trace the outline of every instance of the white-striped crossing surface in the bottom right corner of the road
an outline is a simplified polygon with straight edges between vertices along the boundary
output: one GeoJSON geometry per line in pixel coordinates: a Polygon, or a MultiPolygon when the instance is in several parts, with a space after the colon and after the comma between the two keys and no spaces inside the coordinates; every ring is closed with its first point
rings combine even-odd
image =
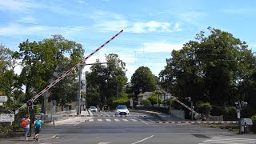
{"type": "Polygon", "coordinates": [[[214,143],[222,143],[222,144],[255,144],[256,138],[233,138],[233,137],[214,137],[207,139],[206,141],[200,142],[198,144],[214,144],[214,143]]]}

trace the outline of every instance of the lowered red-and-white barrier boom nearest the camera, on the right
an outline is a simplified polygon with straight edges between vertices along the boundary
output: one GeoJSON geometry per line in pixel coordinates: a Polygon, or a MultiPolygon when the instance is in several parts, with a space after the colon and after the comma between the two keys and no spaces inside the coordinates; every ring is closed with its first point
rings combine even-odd
{"type": "Polygon", "coordinates": [[[237,121],[195,121],[195,122],[155,122],[157,124],[236,124],[237,121]]]}

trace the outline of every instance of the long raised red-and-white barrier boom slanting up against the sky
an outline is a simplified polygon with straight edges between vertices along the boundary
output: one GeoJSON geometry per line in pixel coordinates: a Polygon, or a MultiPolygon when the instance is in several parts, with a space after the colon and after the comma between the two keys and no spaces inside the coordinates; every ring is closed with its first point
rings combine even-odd
{"type": "MultiPolygon", "coordinates": [[[[101,50],[102,47],[106,46],[106,44],[108,44],[110,41],[112,41],[114,38],[116,38],[119,34],[121,34],[123,32],[123,30],[119,31],[118,34],[115,34],[114,37],[110,38],[108,41],[106,41],[102,46],[98,47],[98,49],[94,50],[94,52],[92,52],[90,55],[88,55],[86,58],[83,58],[81,62],[79,62],[78,64],[76,64],[75,66],[73,66],[70,70],[67,70],[66,73],[62,74],[62,76],[60,76],[58,79],[56,79],[54,82],[50,83],[50,85],[46,86],[45,89],[43,89],[42,91],[40,91],[38,94],[36,94],[33,98],[31,98],[32,101],[34,101],[35,99],[37,99],[38,97],[40,97],[42,94],[44,94],[46,91],[48,91],[52,86],[56,85],[58,82],[60,82],[63,78],[66,77],[66,75],[70,74],[71,71],[75,70],[75,68],[77,68],[80,64],[86,62],[86,60],[88,58],[90,58],[92,55],[94,55],[98,50],[101,50]]],[[[15,110],[15,114],[18,114],[19,109],[21,109],[22,107],[25,107],[26,103],[23,104],[20,108],[18,108],[18,110],[15,110]]]]}

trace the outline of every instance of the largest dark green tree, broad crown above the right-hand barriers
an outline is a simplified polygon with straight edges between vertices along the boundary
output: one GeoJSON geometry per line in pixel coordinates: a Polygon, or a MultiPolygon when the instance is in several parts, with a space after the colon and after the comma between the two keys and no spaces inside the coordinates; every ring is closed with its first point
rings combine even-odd
{"type": "Polygon", "coordinates": [[[208,36],[201,32],[172,52],[159,74],[160,83],[178,98],[232,105],[244,97],[239,85],[254,70],[255,58],[246,42],[226,31],[208,30],[208,36]]]}

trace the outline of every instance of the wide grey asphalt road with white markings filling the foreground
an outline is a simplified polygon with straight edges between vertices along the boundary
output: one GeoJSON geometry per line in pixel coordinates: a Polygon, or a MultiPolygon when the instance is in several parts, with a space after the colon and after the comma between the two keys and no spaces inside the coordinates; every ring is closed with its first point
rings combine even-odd
{"type": "MultiPolygon", "coordinates": [[[[69,122],[58,126],[45,126],[44,135],[38,143],[50,144],[137,144],[137,143],[256,143],[253,136],[231,134],[229,131],[191,124],[156,124],[150,115],[130,113],[129,117],[110,117],[114,112],[94,113],[98,117],[83,122],[69,122]],[[146,117],[138,117],[146,115],[146,117]],[[239,138],[239,139],[237,139],[239,138]]],[[[23,141],[0,141],[0,143],[32,143],[23,141]]]]}

